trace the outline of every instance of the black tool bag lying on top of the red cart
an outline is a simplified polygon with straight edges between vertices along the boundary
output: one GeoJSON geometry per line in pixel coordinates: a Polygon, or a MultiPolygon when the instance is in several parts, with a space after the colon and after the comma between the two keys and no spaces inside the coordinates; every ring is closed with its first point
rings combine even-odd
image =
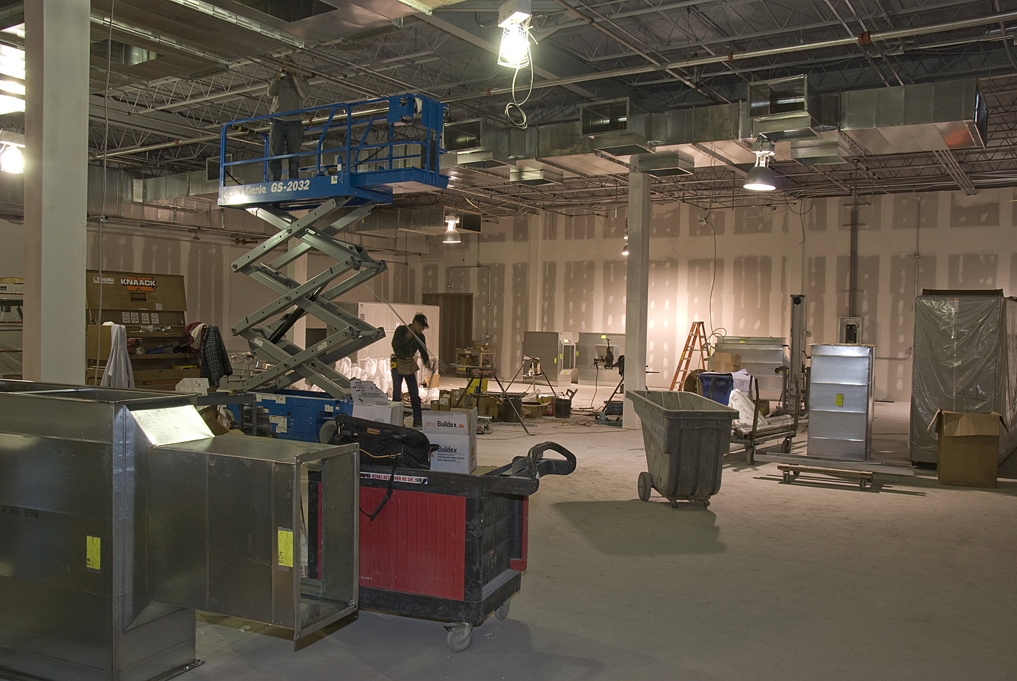
{"type": "Polygon", "coordinates": [[[437,449],[420,431],[387,423],[336,415],[336,433],[328,444],[360,443],[360,462],[396,466],[401,469],[430,469],[431,452],[437,449]]]}

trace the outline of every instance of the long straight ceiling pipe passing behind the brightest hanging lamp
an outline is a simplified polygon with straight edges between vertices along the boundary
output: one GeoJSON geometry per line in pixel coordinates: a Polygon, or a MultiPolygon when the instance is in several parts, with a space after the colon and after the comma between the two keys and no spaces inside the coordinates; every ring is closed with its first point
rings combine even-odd
{"type": "MultiPolygon", "coordinates": [[[[1012,21],[1014,19],[1017,19],[1017,11],[1004,12],[1002,14],[994,14],[991,16],[978,16],[970,19],[959,19],[956,21],[945,21],[942,23],[933,23],[912,28],[882,30],[879,33],[871,34],[868,40],[873,42],[893,41],[893,40],[900,40],[903,38],[928,36],[930,34],[938,34],[948,30],[973,28],[991,23],[999,23],[1001,21],[1012,21]]],[[[779,48],[766,48],[763,50],[750,50],[746,52],[732,52],[729,55],[717,55],[711,57],[700,57],[696,59],[684,59],[681,61],[669,62],[661,66],[647,65],[647,66],[633,66],[629,68],[611,69],[608,71],[584,73],[581,75],[569,76],[564,78],[539,80],[533,83],[533,87],[534,89],[540,89],[544,87],[557,87],[559,85],[571,85],[579,82],[603,80],[605,78],[617,78],[626,75],[641,75],[643,73],[652,73],[654,71],[661,71],[668,68],[677,69],[677,68],[687,68],[692,66],[707,66],[710,64],[721,64],[732,61],[739,61],[742,59],[758,59],[760,57],[771,57],[775,55],[791,54],[795,52],[805,52],[809,50],[825,50],[829,48],[846,47],[849,45],[856,44],[859,40],[860,37],[839,38],[828,41],[816,41],[813,43],[799,43],[798,45],[787,45],[779,48]]],[[[485,90],[483,92],[472,92],[470,95],[460,95],[457,97],[445,98],[442,100],[442,102],[445,103],[462,102],[465,100],[473,100],[493,95],[506,95],[508,92],[512,92],[512,87],[492,87],[491,89],[485,90]]]]}

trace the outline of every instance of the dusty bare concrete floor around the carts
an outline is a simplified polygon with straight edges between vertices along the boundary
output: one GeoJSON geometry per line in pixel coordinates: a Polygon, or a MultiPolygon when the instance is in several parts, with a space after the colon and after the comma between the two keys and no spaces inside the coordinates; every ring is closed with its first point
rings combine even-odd
{"type": "MultiPolygon", "coordinates": [[[[709,509],[672,509],[637,498],[641,431],[583,423],[547,420],[531,438],[499,424],[478,440],[482,465],[552,439],[579,468],[541,481],[523,591],[466,653],[438,623],[370,612],[296,651],[286,630],[201,616],[205,664],[183,678],[1017,678],[1012,463],[997,490],[926,471],[861,492],[784,484],[739,452],[709,509]]],[[[876,423],[877,455],[906,459],[907,405],[878,405],[876,423]]]]}

